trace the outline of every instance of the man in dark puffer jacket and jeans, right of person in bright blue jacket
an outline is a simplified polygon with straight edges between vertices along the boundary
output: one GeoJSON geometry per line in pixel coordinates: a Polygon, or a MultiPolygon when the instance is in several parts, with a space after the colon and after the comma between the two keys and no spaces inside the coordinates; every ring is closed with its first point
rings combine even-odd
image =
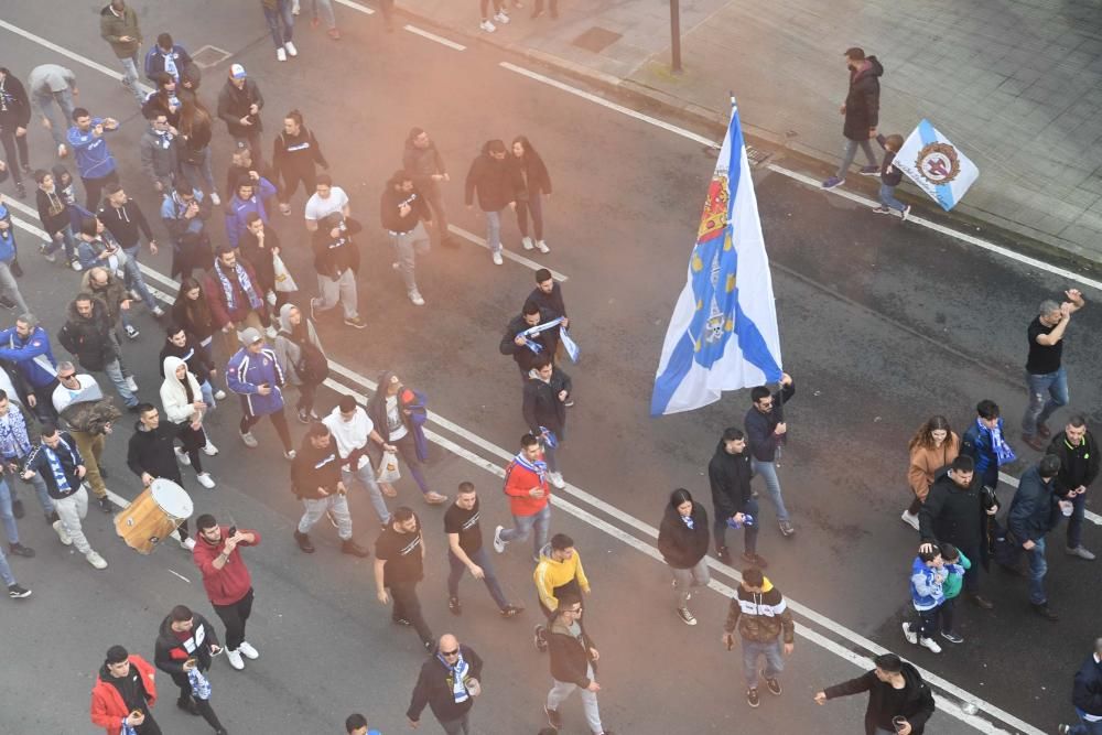
{"type": "Polygon", "coordinates": [[[78,293],[68,305],[68,321],[57,333],[57,342],[76,355],[91,372],[106,372],[127,409],[138,406],[138,383],[122,372],[118,342],[111,338],[111,318],[107,306],[89,293],[78,293]]]}

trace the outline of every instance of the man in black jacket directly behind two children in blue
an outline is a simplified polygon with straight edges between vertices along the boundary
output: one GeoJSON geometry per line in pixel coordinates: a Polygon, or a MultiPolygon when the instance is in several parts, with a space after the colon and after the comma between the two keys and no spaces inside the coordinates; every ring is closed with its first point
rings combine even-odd
{"type": "Polygon", "coordinates": [[[986,547],[987,526],[998,512],[997,500],[992,508],[985,508],[981,494],[982,478],[975,474],[972,457],[961,455],[953,460],[947,471],[941,471],[930,485],[922,509],[918,511],[919,536],[922,544],[919,551],[930,551],[934,543],[951,543],[972,560],[972,566],[964,572],[964,592],[969,599],[983,609],[990,610],[994,604],[980,595],[980,564],[976,560],[986,547]]]}

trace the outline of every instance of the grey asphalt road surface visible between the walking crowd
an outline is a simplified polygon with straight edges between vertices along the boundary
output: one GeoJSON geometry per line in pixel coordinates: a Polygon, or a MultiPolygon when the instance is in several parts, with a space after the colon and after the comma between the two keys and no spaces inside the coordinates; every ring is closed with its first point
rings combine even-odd
{"type": "MultiPolygon", "coordinates": [[[[457,51],[401,30],[387,34],[377,14],[346,7],[337,8],[343,41],[331,42],[301,22],[295,29],[300,56],[278,64],[255,4],[205,0],[136,8],[150,41],[169,30],[193,53],[208,44],[233,55],[205,69],[201,94],[208,107],[215,106],[228,64],[246,66],[267,98],[266,144],[283,111],[303,111],[333,164],[331,174],[365,224],[359,283],[368,328],[352,331],[336,320],[320,326],[331,358],[347,368],[334,380],[344,391],[366,393],[368,380],[395,369],[426,391],[439,418],[430,426],[436,440],[430,480],[446,494],[461,480],[474,482],[487,532],[495,522],[507,522],[500,467],[525,429],[516,368],[498,354],[497,343],[533,285],[532,269],[514,260],[497,268],[484,247],[461,238],[460,248],[437,248],[419,261],[428,305],[414,307],[390,268],[378,197],[400,164],[412,126],[430,131],[449,164],[445,198],[453,224],[476,235],[484,223],[464,210],[462,180],[485,140],[527,134],[550,167],[555,188],[547,204],[551,253],[521,253],[511,217],[504,218],[503,229],[514,253],[566,277],[571,331],[584,353],[580,365],[566,366],[577,399],[570,441],[561,452],[571,487],[560,494],[565,502],[554,511],[553,528],[576,540],[593,583],[585,615],[602,651],[606,727],[620,735],[861,732],[862,700],[818,707],[811,696],[825,684],[857,675],[865,666],[861,660],[880,648],[900,652],[947,682],[936,690],[948,710],[961,696],[979,702],[971,724],[942,710],[927,732],[1054,732],[1073,716],[1071,675],[1099,635],[1102,568],[1066,558],[1062,529],[1055,531],[1048,587],[1060,621],[1034,616],[1024,581],[993,572],[983,584],[995,609],[961,605],[959,631],[965,642],[946,644],[934,656],[908,646],[899,631],[910,609],[907,575],[917,539],[898,515],[908,502],[906,442],[932,413],[947,414],[963,431],[975,402],[992,398],[1002,406],[1009,441],[1023,458],[1009,474],[1036,461],[1017,431],[1025,406],[1025,327],[1042,299],[1077,283],[874,216],[774,172],[757,173],[785,368],[798,388],[787,407],[790,441],[780,469],[798,533],[782,539],[763,502],[759,552],[770,562],[768,576],[801,606],[798,631],[811,637],[797,639],[784,695],[766,696],[750,710],[739,657],[720,644],[724,592],[737,584],[734,571],[713,569],[717,588],[694,595],[700,625],[688,628],[674,615],[668,572],[652,548],[671,488],[690,488],[710,508],[707,461],[723,428],[742,425],[749,401],[747,391],[739,391],[692,413],[647,415],[714,151],[503,68],[501,61],[520,62],[500,52],[457,51]]],[[[97,13],[89,3],[41,0],[6,9],[2,20],[117,71],[98,36],[97,13]]],[[[23,79],[46,62],[76,72],[78,104],[122,121],[110,145],[128,192],[152,215],[158,201],[138,165],[144,121],[133,99],[116,79],[42,41],[0,28],[0,62],[23,79]]],[[[47,132],[35,123],[30,136],[33,165],[55,163],[47,132]]],[[[214,144],[219,182],[229,163],[228,143],[219,125],[214,144]]],[[[10,182],[4,185],[9,202],[12,191],[10,182]]],[[[33,206],[33,198],[24,203],[33,206]]],[[[292,273],[313,293],[301,193],[292,204],[294,215],[273,215],[273,226],[292,273]]],[[[18,207],[14,214],[37,225],[18,207]]],[[[159,223],[154,229],[166,242],[159,223]]],[[[220,241],[216,219],[210,229],[220,241]]],[[[18,237],[26,271],[22,292],[54,334],[78,277],[39,259],[30,231],[21,229],[18,237]]],[[[142,261],[160,273],[169,270],[164,251],[147,252],[142,261]]],[[[162,281],[149,282],[172,292],[162,281]]],[[[1093,302],[1099,293],[1084,289],[1084,295],[1093,302]]],[[[140,396],[155,400],[162,331],[137,309],[142,335],[125,346],[125,355],[140,396]]],[[[13,318],[0,314],[4,325],[13,318]]],[[[1094,338],[1100,322],[1102,314],[1089,303],[1072,322],[1065,353],[1070,408],[1085,412],[1092,425],[1102,419],[1102,347],[1094,338]]],[[[62,348],[55,350],[64,356],[62,348]]],[[[335,400],[335,392],[324,391],[318,409],[327,410],[335,400]]],[[[1067,415],[1062,410],[1054,425],[1067,415]]],[[[236,436],[238,417],[233,399],[212,415],[222,454],[209,468],[218,487],[204,490],[184,473],[196,512],[231,515],[240,527],[264,534],[259,548],[245,552],[257,590],[249,638],[261,658],[242,673],[217,662],[212,675],[216,711],[233,733],[339,733],[353,711],[365,712],[385,733],[406,729],[403,713],[423,656],[415,636],[391,625],[389,612],[375,599],[370,560],[339,555],[332,529],[317,528],[314,555],[298,550],[291,532],[299,509],[276,437],[261,424],[261,447],[246,450],[236,436]]],[[[125,464],[130,431],[120,426],[107,454],[108,486],[123,498],[139,490],[125,464]]],[[[298,440],[301,426],[293,431],[298,440]]],[[[208,616],[213,610],[183,551],[170,544],[139,556],[115,537],[109,516],[91,510],[89,539],[110,563],[97,572],[56,542],[29,489],[22,491],[29,512],[20,531],[39,553],[12,565],[34,595],[0,605],[9,631],[0,667],[2,729],[91,732],[88,692],[107,647],[122,642],[151,659],[156,627],[173,605],[185,603],[208,616]]],[[[464,615],[453,618],[444,588],[442,510],[424,506],[408,479],[399,491],[426,528],[428,573],[421,585],[426,619],[437,635],[454,631],[487,661],[485,694],[473,714],[475,732],[536,733],[550,681],[547,660],[530,642],[538,615],[526,550],[512,548],[494,560],[509,597],[529,608],[525,615],[498,619],[482,585],[467,579],[464,615]]],[[[1012,494],[1013,487],[1001,486],[1005,505],[1012,494]]],[[[1098,510],[1090,496],[1088,504],[1098,510]]],[[[357,540],[372,542],[374,516],[358,493],[353,510],[357,540]]],[[[1102,550],[1098,526],[1087,526],[1085,545],[1102,550]]],[[[162,677],[160,684],[164,696],[155,712],[164,732],[204,731],[204,724],[172,706],[171,682],[162,677]]],[[[585,731],[579,702],[564,706],[564,732],[585,731]]],[[[429,732],[436,728],[429,714],[422,722],[429,732]]]]}

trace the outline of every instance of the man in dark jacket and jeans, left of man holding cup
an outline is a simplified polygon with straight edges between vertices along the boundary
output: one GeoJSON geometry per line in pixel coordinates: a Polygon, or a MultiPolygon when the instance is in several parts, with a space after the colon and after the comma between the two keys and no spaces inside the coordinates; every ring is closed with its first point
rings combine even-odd
{"type": "MultiPolygon", "coordinates": [[[[1055,454],[1046,454],[1039,463],[1026,469],[1018,479],[1018,489],[1006,516],[1014,541],[1029,554],[1029,604],[1035,613],[1052,623],[1059,618],[1049,608],[1048,595],[1045,594],[1045,575],[1048,573],[1045,536],[1059,525],[1061,510],[1067,508],[1068,515],[1071,511],[1071,502],[1060,500],[1056,494],[1059,472],[1060,457],[1055,454]]],[[[929,496],[926,500],[929,502],[929,496]]]]}

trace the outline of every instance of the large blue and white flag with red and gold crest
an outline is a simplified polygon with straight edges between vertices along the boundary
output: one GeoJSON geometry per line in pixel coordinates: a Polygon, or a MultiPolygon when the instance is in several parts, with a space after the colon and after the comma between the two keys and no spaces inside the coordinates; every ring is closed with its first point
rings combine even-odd
{"type": "Polygon", "coordinates": [[[780,337],[746,144],[731,125],[707,190],[689,278],[666,331],[650,414],[691,411],[724,390],[779,381],[780,337]]]}

